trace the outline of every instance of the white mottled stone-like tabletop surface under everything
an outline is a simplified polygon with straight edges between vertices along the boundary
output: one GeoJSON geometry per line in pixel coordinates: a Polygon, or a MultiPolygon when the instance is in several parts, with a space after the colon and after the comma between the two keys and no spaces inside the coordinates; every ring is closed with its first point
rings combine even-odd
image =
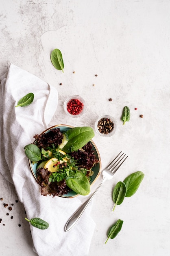
{"type": "MultiPolygon", "coordinates": [[[[168,0],[0,1],[0,75],[13,63],[56,87],[59,105],[51,125],[94,128],[95,119],[105,113],[117,119],[113,137],[95,134],[93,139],[103,167],[120,150],[129,157],[93,200],[96,229],[89,256],[170,255],[169,10],[168,0]],[[63,54],[64,73],[51,64],[55,48],[63,54]],[[87,103],[77,119],[63,111],[65,98],[74,94],[87,103]],[[123,126],[124,106],[131,109],[131,120],[123,126]],[[113,213],[113,186],[139,170],[145,177],[138,191],[113,213]],[[124,220],[120,234],[105,245],[108,228],[119,218],[124,220]]],[[[24,208],[2,175],[0,197],[5,223],[0,224],[0,255],[36,255],[24,208]],[[4,202],[14,203],[13,220],[4,202]]]]}

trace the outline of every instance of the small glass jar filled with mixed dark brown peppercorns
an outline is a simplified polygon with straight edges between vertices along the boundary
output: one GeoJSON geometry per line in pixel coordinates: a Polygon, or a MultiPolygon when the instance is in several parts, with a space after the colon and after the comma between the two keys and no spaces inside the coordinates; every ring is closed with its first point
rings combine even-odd
{"type": "Polygon", "coordinates": [[[103,137],[110,137],[113,134],[115,134],[116,128],[116,119],[109,115],[102,115],[98,117],[98,119],[95,122],[95,129],[97,134],[103,137]]]}

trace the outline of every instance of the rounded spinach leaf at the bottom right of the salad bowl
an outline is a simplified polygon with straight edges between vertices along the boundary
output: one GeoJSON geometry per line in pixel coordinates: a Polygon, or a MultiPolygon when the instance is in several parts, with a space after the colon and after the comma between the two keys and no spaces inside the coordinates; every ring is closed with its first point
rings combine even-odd
{"type": "Polygon", "coordinates": [[[87,177],[81,173],[76,172],[74,177],[68,177],[66,180],[67,186],[79,195],[88,195],[90,193],[90,183],[87,177]]]}

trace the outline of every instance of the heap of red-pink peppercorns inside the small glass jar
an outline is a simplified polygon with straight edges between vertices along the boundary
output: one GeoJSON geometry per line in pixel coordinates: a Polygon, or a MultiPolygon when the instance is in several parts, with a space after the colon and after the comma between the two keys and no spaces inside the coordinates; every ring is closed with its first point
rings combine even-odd
{"type": "Polygon", "coordinates": [[[79,115],[83,110],[83,103],[79,99],[70,99],[67,103],[67,111],[71,115],[79,115]]]}

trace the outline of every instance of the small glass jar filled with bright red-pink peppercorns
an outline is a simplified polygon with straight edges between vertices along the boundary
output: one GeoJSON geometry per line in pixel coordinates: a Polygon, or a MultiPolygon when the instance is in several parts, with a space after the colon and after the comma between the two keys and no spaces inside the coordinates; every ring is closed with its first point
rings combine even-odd
{"type": "Polygon", "coordinates": [[[85,101],[78,95],[70,96],[64,102],[64,110],[70,117],[81,117],[85,112],[85,101]]]}

